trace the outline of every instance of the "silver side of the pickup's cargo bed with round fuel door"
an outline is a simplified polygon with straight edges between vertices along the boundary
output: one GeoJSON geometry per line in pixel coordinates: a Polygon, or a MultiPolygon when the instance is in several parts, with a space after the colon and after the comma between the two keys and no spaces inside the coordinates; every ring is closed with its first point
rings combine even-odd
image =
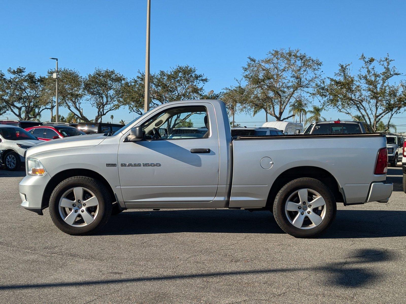
{"type": "Polygon", "coordinates": [[[240,136],[232,143],[230,207],[266,206],[274,181],[298,171],[332,176],[348,204],[367,201],[371,182],[385,180],[374,175],[378,150],[386,147],[380,134],[240,136]],[[272,167],[264,169],[261,161],[272,167]]]}

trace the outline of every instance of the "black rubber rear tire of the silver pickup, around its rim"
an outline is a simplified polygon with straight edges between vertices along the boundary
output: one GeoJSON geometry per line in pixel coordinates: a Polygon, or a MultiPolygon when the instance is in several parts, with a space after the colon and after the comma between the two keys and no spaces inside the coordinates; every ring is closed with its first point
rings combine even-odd
{"type": "MultiPolygon", "coordinates": [[[[308,204],[311,204],[311,201],[309,201],[308,204]]],[[[301,210],[304,211],[304,208],[302,208],[301,210]]],[[[287,183],[281,188],[281,190],[279,190],[278,194],[275,197],[273,211],[276,223],[278,223],[279,227],[281,227],[283,231],[294,236],[295,238],[309,238],[322,233],[328,228],[328,226],[331,225],[337,212],[337,204],[335,202],[333,193],[325,184],[323,184],[319,180],[315,180],[314,178],[298,178],[287,183]],[[289,222],[285,214],[285,204],[287,199],[290,195],[295,193],[295,191],[298,191],[302,188],[316,191],[323,197],[326,203],[323,207],[325,208],[325,210],[323,209],[324,218],[322,222],[311,229],[295,227],[292,223],[289,222]]],[[[306,214],[304,214],[304,216],[306,216],[306,214]]],[[[309,221],[309,218],[307,218],[306,220],[309,221]]],[[[304,227],[304,225],[302,225],[302,227],[304,227]]]]}

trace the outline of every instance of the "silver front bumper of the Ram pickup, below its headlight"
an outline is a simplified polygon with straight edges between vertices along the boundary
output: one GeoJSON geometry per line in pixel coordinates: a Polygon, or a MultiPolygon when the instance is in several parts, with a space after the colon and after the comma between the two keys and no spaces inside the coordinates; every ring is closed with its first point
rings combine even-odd
{"type": "Polygon", "coordinates": [[[42,214],[42,197],[45,187],[51,177],[48,173],[44,176],[27,175],[19,183],[19,192],[22,200],[21,206],[27,210],[42,214]]]}

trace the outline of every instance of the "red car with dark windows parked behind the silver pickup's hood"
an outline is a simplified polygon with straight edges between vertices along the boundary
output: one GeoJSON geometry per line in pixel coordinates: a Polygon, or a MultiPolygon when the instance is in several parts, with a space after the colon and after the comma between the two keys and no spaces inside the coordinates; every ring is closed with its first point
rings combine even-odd
{"type": "Polygon", "coordinates": [[[77,128],[64,124],[34,126],[31,128],[26,128],[25,130],[38,139],[47,141],[69,136],[85,135],[84,132],[78,130],[77,128]]]}

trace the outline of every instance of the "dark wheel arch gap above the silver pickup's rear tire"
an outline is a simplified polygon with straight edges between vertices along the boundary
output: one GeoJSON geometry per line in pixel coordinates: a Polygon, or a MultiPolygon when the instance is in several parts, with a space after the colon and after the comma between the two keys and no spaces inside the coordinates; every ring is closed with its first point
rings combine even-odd
{"type": "Polygon", "coordinates": [[[281,190],[285,184],[292,180],[296,180],[297,178],[314,178],[315,180],[319,180],[330,188],[336,202],[345,202],[345,195],[343,195],[341,192],[342,189],[339,182],[333,176],[333,174],[320,167],[300,166],[289,168],[279,174],[270,188],[266,208],[272,210],[276,194],[279,192],[279,190],[281,190]]]}

